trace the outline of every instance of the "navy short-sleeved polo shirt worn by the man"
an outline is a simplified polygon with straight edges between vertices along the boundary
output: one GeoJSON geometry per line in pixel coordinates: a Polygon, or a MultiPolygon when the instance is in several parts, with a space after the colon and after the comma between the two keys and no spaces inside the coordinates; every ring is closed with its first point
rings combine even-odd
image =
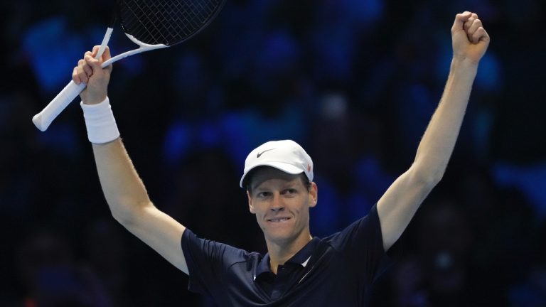
{"type": "Polygon", "coordinates": [[[375,205],[341,232],[311,239],[277,275],[269,254],[200,239],[188,229],[182,250],[188,289],[218,306],[365,306],[371,284],[389,264],[375,205]]]}

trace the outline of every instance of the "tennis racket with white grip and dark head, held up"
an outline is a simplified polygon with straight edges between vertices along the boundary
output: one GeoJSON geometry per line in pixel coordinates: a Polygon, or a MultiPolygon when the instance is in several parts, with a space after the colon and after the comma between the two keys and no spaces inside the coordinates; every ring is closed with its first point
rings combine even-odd
{"type": "MultiPolygon", "coordinates": [[[[106,60],[102,68],[149,50],[171,47],[187,41],[208,26],[222,9],[225,0],[117,0],[115,16],[108,27],[99,52],[100,58],[112,35],[114,23],[121,21],[125,35],[139,48],[129,50],[106,60]]],[[[42,110],[32,122],[45,131],[63,109],[85,89],[85,84],[68,85],[42,110]]]]}

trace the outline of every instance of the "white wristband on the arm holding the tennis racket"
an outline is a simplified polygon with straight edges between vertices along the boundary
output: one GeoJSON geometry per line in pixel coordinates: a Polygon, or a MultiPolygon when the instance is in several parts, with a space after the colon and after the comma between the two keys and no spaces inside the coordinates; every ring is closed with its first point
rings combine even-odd
{"type": "Polygon", "coordinates": [[[119,137],[116,119],[108,97],[100,104],[80,102],[87,127],[87,138],[94,144],[105,144],[119,137]]]}

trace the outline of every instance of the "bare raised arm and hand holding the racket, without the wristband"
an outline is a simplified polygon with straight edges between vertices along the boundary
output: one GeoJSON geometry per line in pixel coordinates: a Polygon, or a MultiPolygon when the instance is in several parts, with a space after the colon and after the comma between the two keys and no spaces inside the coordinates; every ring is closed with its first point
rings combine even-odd
{"type": "MultiPolygon", "coordinates": [[[[87,83],[87,89],[80,94],[83,104],[96,106],[108,103],[105,100],[112,71],[112,65],[104,70],[100,68],[100,63],[110,57],[109,50],[102,59],[95,60],[93,56],[97,50],[98,46],[95,46],[92,52],[85,53],[73,72],[76,83],[87,83]]],[[[181,237],[186,228],[151,203],[122,140],[117,137],[105,144],[92,144],[92,147],[102,191],[114,218],[188,274],[181,248],[181,237]]]]}

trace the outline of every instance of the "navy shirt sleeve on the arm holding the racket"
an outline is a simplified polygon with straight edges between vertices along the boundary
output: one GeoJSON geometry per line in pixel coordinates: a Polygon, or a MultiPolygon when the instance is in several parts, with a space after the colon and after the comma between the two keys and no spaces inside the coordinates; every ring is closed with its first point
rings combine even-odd
{"type": "Polygon", "coordinates": [[[188,289],[205,296],[215,296],[224,284],[226,269],[235,262],[244,261],[247,254],[228,244],[201,239],[187,228],[181,244],[188,265],[188,289]]]}

